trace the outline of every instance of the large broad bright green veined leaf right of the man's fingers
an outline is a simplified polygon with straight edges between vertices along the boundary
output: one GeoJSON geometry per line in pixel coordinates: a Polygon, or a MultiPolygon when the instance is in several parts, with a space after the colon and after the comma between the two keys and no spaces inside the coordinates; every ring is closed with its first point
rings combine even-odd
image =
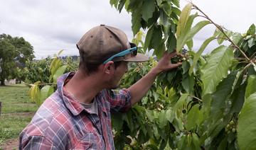
{"type": "Polygon", "coordinates": [[[233,55],[233,50],[223,45],[210,53],[208,62],[202,69],[203,96],[213,93],[218,83],[228,75],[228,69],[234,59],[233,55]]]}

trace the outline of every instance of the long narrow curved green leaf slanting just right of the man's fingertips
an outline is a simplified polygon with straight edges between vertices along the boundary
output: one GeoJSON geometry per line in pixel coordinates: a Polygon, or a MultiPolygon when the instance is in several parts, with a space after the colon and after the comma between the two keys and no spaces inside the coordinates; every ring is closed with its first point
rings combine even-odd
{"type": "Polygon", "coordinates": [[[194,57],[193,57],[193,64],[191,65],[191,68],[189,69],[189,72],[188,72],[190,75],[192,74],[193,69],[194,69],[194,67],[195,67],[196,64],[197,64],[199,57],[201,57],[201,54],[203,53],[203,50],[205,50],[206,47],[207,47],[207,45],[208,45],[212,40],[214,40],[214,39],[215,39],[215,37],[210,37],[210,38],[208,38],[207,40],[205,40],[205,41],[203,42],[203,45],[201,45],[201,47],[199,48],[198,52],[196,52],[196,54],[195,54],[194,57]]]}

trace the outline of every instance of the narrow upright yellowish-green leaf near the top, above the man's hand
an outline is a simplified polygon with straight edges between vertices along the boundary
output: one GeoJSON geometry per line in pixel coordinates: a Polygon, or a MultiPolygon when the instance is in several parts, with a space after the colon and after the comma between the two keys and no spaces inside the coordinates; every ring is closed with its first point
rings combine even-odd
{"type": "Polygon", "coordinates": [[[181,11],[180,18],[177,24],[176,36],[179,37],[181,35],[181,31],[184,30],[186,23],[188,21],[189,14],[191,13],[191,8],[193,4],[188,3],[181,11]]]}

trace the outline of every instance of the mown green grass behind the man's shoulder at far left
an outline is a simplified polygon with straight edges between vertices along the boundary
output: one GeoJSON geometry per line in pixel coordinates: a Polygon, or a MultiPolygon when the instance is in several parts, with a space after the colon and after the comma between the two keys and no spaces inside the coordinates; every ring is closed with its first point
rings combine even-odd
{"type": "Polygon", "coordinates": [[[28,89],[23,85],[0,86],[0,145],[7,139],[18,138],[18,134],[28,125],[38,109],[29,100],[28,89]]]}

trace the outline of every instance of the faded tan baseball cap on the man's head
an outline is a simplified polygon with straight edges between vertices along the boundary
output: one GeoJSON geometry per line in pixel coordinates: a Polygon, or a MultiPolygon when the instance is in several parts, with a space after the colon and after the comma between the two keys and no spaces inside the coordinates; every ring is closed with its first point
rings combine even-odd
{"type": "MultiPolygon", "coordinates": [[[[127,35],[122,30],[108,25],[100,25],[90,29],[77,43],[80,57],[90,63],[103,63],[114,54],[131,48],[127,35]]],[[[115,57],[112,61],[146,62],[149,58],[144,54],[126,54],[115,57]]]]}

